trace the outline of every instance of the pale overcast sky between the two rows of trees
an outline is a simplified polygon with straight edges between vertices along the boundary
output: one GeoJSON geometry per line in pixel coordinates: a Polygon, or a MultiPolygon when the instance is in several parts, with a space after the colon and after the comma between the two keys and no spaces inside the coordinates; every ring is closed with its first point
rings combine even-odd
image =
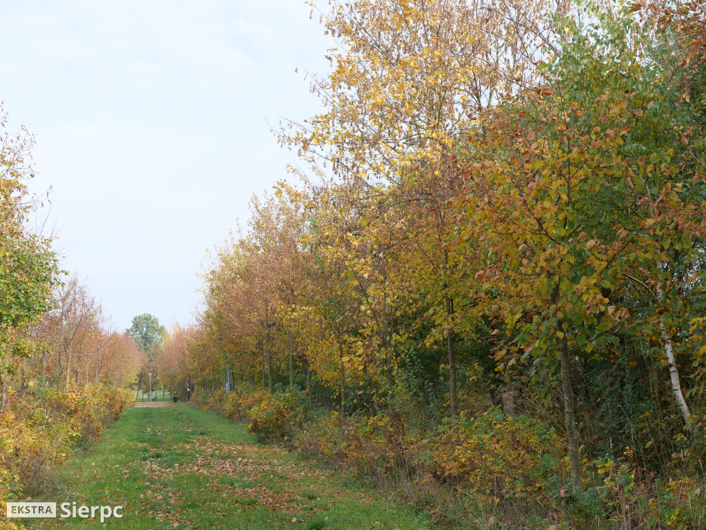
{"type": "Polygon", "coordinates": [[[0,100],[36,134],[64,268],[114,324],[186,323],[206,249],[294,155],[268,122],[317,103],[331,46],[303,0],[1,2],[0,100]],[[295,69],[299,66],[299,73],[295,69]]]}

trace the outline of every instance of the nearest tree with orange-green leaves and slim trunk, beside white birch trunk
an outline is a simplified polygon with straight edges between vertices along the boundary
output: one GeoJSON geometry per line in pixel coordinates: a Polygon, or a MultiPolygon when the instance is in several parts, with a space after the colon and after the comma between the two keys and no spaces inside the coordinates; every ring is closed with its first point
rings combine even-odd
{"type": "MultiPolygon", "coordinates": [[[[563,20],[570,30],[551,63],[539,65],[543,83],[499,106],[459,166],[467,182],[466,237],[483,242],[491,257],[475,278],[503,294],[488,304],[504,315],[519,348],[511,351],[558,360],[575,490],[573,359],[616,344],[623,326],[652,337],[647,322],[630,319],[626,297],[635,290],[644,288],[661,308],[671,385],[688,419],[664,289],[676,295],[681,283],[673,276],[673,245],[688,253],[701,231],[700,205],[681,183],[693,176],[688,112],[669,85],[654,85],[657,62],[642,60],[655,52],[654,35],[635,30],[624,15],[599,20],[587,28],[563,20]]],[[[659,69],[669,67],[659,57],[659,69]]]]}

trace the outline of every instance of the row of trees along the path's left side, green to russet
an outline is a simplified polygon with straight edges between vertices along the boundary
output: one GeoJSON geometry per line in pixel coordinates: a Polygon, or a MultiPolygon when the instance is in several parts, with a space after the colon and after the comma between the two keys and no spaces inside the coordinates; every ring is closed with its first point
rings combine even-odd
{"type": "Polygon", "coordinates": [[[133,384],[147,364],[136,333],[118,331],[85,282],[61,269],[45,234],[47,197],[30,194],[33,136],[0,110],[0,413],[8,388],[77,391],[133,384]]]}

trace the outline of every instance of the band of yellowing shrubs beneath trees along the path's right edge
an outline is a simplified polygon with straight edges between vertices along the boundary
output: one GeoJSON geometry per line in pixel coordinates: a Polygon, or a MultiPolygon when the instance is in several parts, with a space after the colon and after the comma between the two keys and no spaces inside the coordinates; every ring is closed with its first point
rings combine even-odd
{"type": "Polygon", "coordinates": [[[341,422],[336,411],[307,408],[300,391],[256,389],[227,396],[222,412],[248,420],[250,432],[263,440],[287,440],[299,452],[372,478],[400,500],[429,510],[439,524],[482,526],[492,518],[508,528],[686,530],[706,511],[702,483],[655,480],[629,449],[617,463],[584,459],[584,490],[573,494],[565,488],[566,448],[554,429],[499,408],[429,430],[412,428],[419,422],[410,421],[409,412],[341,422]]]}

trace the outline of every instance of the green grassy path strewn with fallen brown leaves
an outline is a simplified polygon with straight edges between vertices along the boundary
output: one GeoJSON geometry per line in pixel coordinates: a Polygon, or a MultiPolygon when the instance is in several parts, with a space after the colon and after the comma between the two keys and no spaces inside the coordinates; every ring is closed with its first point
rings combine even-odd
{"type": "Polygon", "coordinates": [[[32,528],[425,529],[425,517],[361,490],[241,424],[182,404],[125,411],[57,471],[52,499],[124,505],[122,519],[35,519],[32,528]]]}

